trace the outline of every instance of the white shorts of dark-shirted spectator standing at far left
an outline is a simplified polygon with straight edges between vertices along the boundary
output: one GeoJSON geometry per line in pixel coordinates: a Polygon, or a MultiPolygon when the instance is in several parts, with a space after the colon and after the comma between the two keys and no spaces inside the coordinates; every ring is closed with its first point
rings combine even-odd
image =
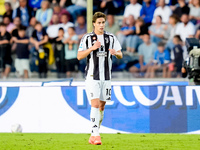
{"type": "Polygon", "coordinates": [[[30,72],[29,59],[15,59],[15,69],[20,76],[24,74],[24,70],[30,72]]]}

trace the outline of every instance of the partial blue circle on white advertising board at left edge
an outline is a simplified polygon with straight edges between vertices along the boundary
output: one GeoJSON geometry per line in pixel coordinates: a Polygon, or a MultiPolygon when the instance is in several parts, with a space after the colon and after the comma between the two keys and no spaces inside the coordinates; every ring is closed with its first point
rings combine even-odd
{"type": "Polygon", "coordinates": [[[0,87],[0,116],[14,104],[19,94],[19,87],[0,87]]]}

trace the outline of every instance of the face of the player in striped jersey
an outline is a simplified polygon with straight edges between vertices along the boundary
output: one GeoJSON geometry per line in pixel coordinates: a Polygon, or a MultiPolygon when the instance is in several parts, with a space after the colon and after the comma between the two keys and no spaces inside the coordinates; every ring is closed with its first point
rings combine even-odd
{"type": "Polygon", "coordinates": [[[98,18],[94,25],[94,31],[96,34],[103,34],[104,28],[105,28],[105,22],[106,20],[104,18],[98,18]]]}

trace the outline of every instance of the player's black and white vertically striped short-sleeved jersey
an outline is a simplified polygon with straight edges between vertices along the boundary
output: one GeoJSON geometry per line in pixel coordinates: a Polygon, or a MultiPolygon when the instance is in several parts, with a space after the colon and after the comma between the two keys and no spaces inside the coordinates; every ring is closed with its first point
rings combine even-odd
{"type": "Polygon", "coordinates": [[[87,33],[81,39],[78,51],[89,49],[97,39],[101,43],[101,47],[87,56],[86,78],[93,77],[94,80],[110,80],[112,55],[108,49],[121,50],[121,45],[113,34],[106,31],[103,35],[96,35],[94,32],[87,33]]]}

